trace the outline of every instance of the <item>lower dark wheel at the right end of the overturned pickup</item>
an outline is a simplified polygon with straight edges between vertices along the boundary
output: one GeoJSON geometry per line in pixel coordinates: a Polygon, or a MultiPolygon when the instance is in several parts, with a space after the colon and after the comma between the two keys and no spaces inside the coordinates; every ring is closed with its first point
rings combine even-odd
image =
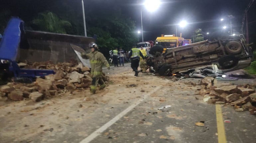
{"type": "Polygon", "coordinates": [[[218,60],[219,65],[222,69],[228,69],[238,64],[238,59],[234,55],[226,55],[218,60]]]}

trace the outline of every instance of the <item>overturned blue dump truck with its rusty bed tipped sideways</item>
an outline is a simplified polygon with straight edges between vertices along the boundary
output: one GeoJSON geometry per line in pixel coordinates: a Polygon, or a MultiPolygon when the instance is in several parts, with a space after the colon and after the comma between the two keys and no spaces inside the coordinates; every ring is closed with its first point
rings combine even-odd
{"type": "Polygon", "coordinates": [[[0,42],[0,80],[15,77],[32,81],[36,77],[54,74],[53,70],[22,69],[17,61],[67,62],[77,59],[70,44],[86,50],[89,49],[88,43],[94,41],[91,37],[24,30],[24,22],[12,18],[0,42]]]}

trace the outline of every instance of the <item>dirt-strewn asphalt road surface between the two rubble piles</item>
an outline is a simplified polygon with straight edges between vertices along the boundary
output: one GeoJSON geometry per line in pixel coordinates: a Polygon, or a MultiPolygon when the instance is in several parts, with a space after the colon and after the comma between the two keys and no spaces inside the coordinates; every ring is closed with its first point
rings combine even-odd
{"type": "MultiPolygon", "coordinates": [[[[199,79],[172,81],[151,73],[135,77],[129,64],[104,72],[110,81],[96,94],[87,88],[40,102],[1,101],[0,142],[218,142],[215,105],[198,95],[199,79]],[[195,125],[200,121],[205,126],[195,125]]],[[[231,121],[223,126],[227,141],[255,142],[255,116],[228,105],[221,108],[223,118],[231,121]]]]}

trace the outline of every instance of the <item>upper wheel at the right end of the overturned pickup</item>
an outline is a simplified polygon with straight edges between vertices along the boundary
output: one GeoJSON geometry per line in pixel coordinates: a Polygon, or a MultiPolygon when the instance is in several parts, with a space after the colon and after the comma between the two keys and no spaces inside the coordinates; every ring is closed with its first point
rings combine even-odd
{"type": "Polygon", "coordinates": [[[227,54],[240,54],[242,52],[242,48],[241,43],[237,41],[229,41],[225,46],[227,54]]]}

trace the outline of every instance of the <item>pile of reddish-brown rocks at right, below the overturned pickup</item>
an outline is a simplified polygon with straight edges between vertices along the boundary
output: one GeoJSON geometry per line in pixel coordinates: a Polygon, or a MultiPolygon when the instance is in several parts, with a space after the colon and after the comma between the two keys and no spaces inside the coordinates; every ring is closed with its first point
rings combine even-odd
{"type": "Polygon", "coordinates": [[[199,94],[204,96],[203,101],[211,104],[227,103],[234,106],[235,111],[243,112],[249,110],[256,115],[256,85],[226,85],[215,87],[214,78],[201,79],[199,94]]]}

